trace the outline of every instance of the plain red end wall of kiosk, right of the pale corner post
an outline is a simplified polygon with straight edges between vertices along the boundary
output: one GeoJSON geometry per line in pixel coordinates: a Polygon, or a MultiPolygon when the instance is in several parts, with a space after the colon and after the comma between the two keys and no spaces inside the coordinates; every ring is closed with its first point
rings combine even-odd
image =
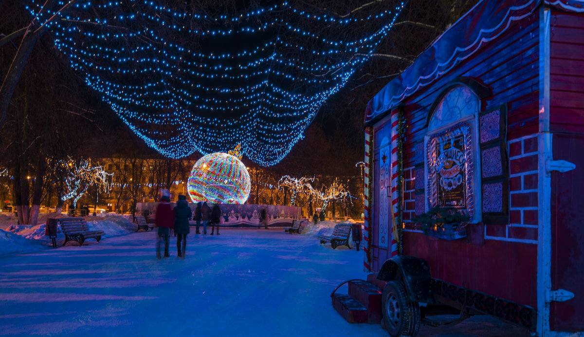
{"type": "Polygon", "coordinates": [[[555,331],[584,330],[584,15],[554,12],[550,34],[550,128],[554,159],[576,169],[552,173],[551,286],[575,296],[552,302],[555,331]]]}

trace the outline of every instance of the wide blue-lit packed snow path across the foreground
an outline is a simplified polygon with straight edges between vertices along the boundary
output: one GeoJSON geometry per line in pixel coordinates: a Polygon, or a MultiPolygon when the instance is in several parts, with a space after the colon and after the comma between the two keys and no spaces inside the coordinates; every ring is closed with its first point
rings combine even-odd
{"type": "Polygon", "coordinates": [[[339,283],[366,277],[354,247],[275,228],[190,234],[184,260],[176,238],[171,258],[154,247],[138,232],[1,256],[0,335],[388,335],[331,305],[339,283]]]}

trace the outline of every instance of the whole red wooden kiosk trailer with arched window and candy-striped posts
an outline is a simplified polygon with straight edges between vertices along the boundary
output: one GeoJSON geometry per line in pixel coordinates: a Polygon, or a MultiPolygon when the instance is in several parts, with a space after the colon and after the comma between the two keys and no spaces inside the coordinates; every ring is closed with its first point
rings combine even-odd
{"type": "Polygon", "coordinates": [[[390,335],[447,308],[583,335],[584,1],[479,2],[365,122],[364,267],[390,335]],[[470,221],[411,220],[436,206],[470,221]]]}

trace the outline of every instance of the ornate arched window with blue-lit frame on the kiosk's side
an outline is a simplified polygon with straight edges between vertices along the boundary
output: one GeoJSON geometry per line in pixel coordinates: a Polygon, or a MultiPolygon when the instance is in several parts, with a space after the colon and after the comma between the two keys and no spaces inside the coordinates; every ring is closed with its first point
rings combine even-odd
{"type": "Polygon", "coordinates": [[[464,84],[446,88],[430,110],[424,139],[426,211],[452,208],[468,214],[471,223],[481,222],[480,112],[481,99],[464,84]]]}

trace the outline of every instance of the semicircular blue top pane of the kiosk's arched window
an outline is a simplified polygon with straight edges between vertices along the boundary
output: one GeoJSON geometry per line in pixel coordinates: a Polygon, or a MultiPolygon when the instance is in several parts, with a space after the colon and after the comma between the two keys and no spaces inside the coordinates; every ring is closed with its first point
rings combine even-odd
{"type": "Polygon", "coordinates": [[[476,116],[478,111],[477,95],[468,86],[456,86],[436,106],[428,130],[435,130],[467,116],[476,116]]]}

